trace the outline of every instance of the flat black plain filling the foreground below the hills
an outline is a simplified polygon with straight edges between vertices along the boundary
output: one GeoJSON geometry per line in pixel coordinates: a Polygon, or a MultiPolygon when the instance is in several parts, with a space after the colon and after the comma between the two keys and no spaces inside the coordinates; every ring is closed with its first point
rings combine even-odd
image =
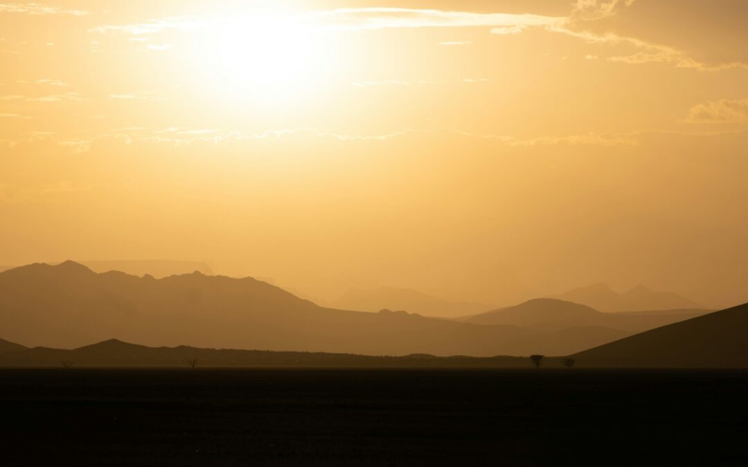
{"type": "Polygon", "coordinates": [[[747,371],[0,370],[4,466],[748,465],[747,371]]]}

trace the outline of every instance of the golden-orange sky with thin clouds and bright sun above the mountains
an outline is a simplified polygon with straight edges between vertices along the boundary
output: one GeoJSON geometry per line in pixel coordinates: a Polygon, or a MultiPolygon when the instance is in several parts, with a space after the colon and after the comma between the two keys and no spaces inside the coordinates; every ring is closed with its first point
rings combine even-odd
{"type": "Polygon", "coordinates": [[[742,0],[0,2],[0,265],[748,301],[742,0]]]}

